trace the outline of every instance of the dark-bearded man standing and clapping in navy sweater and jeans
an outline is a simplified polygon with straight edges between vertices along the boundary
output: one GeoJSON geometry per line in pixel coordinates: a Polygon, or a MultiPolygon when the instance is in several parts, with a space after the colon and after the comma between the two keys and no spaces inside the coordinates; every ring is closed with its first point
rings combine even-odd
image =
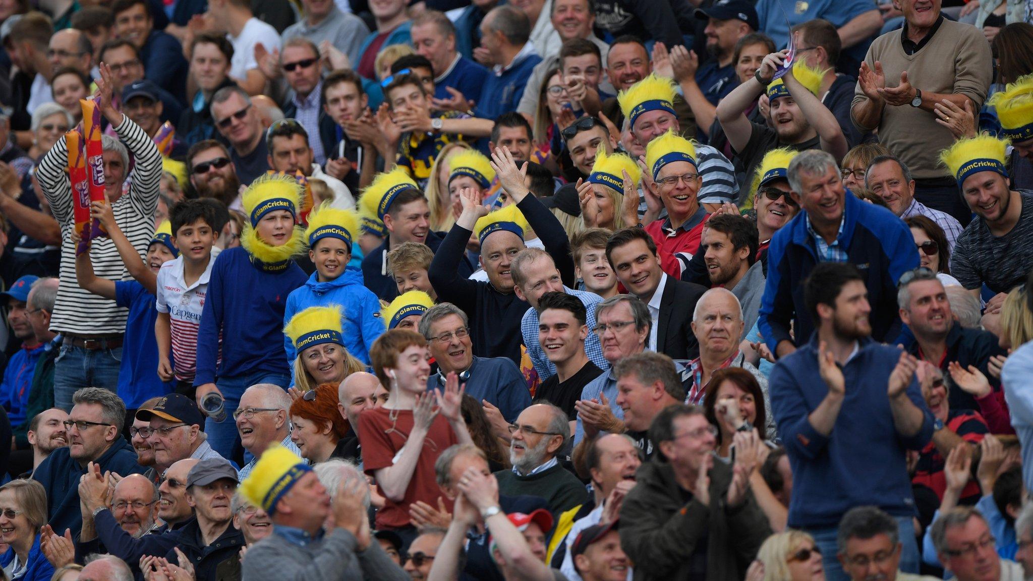
{"type": "Polygon", "coordinates": [[[914,377],[918,362],[871,338],[868,295],[853,265],[814,267],[804,297],[817,331],[771,373],[772,411],[793,475],[788,525],[814,538],[834,579],[842,576],[834,556],[840,516],[866,504],[896,518],[901,569],[918,571],[906,453],[930,441],[934,419],[914,377]]]}

